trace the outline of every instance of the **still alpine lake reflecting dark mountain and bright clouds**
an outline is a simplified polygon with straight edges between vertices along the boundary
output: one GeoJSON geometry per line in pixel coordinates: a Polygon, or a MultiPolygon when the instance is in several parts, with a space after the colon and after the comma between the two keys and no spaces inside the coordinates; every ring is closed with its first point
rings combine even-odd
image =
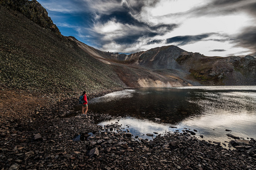
{"type": "Polygon", "coordinates": [[[195,129],[196,137],[206,141],[228,142],[228,133],[256,138],[256,86],[123,90],[90,100],[89,110],[119,117],[99,125],[118,122],[144,139],[152,139],[147,133],[184,128],[195,129]]]}

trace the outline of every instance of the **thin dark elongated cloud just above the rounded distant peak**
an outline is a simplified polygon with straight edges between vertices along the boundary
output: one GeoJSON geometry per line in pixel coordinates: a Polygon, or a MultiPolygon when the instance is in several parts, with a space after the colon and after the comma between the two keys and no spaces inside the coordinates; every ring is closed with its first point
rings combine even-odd
{"type": "Polygon", "coordinates": [[[171,37],[170,39],[167,39],[166,42],[167,44],[176,42],[177,45],[186,45],[186,44],[191,44],[196,41],[201,41],[203,39],[206,39],[213,34],[214,33],[204,33],[204,34],[195,35],[195,36],[175,36],[175,37],[171,37]]]}

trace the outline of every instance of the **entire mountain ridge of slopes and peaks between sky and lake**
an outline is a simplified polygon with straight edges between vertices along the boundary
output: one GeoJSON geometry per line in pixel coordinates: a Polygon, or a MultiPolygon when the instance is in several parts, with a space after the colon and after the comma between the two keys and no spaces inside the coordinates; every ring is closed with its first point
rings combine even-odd
{"type": "Polygon", "coordinates": [[[17,61],[14,62],[9,59],[9,62],[1,62],[3,68],[6,69],[3,69],[0,73],[3,79],[2,86],[15,87],[18,85],[16,87],[32,87],[34,90],[38,87],[44,87],[43,89],[48,88],[48,90],[52,89],[57,92],[61,89],[81,90],[83,87],[93,89],[92,84],[97,84],[95,87],[99,89],[114,88],[115,86],[137,88],[256,84],[254,57],[228,57],[228,60],[225,60],[222,57],[206,57],[199,53],[186,52],[174,45],[161,46],[129,55],[102,52],[78,41],[75,37],[62,36],[57,27],[51,29],[55,28],[56,25],[53,24],[47,11],[37,1],[22,0],[19,3],[18,1],[15,2],[1,0],[0,3],[1,20],[6,22],[2,22],[1,25],[2,32],[4,32],[1,37],[1,44],[3,44],[1,56],[12,56],[13,60],[17,61]],[[28,6],[28,8],[24,6],[28,6]],[[18,8],[20,9],[18,10],[18,8]],[[43,13],[43,15],[40,13],[43,13]],[[22,15],[30,19],[31,22],[25,20],[22,15]],[[10,19],[10,21],[4,18],[10,19]],[[20,22],[14,24],[18,18],[20,22]],[[42,20],[48,20],[50,24],[42,24],[44,23],[42,20]],[[43,29],[35,27],[32,23],[36,23],[43,29]],[[9,28],[13,29],[9,30],[9,28]],[[53,34],[44,31],[44,29],[53,34]],[[38,39],[38,37],[40,38],[38,39]],[[13,50],[13,47],[16,49],[13,50]],[[10,53],[10,55],[7,55],[7,53],[10,53]],[[32,66],[20,61],[21,58],[24,58],[24,61],[30,61],[32,66]],[[79,63],[77,59],[82,60],[82,62],[79,63]],[[34,80],[30,77],[28,71],[13,71],[15,70],[14,66],[20,65],[18,61],[24,63],[22,66],[24,70],[38,73],[41,78],[33,76],[34,80]],[[39,61],[47,68],[37,63],[39,61]],[[36,70],[35,67],[41,70],[36,70]],[[54,67],[60,67],[59,70],[62,73],[55,70],[54,67]],[[62,67],[65,67],[65,69],[62,67]],[[84,67],[87,69],[87,74],[93,76],[88,77],[86,74],[81,74],[82,70],[85,70],[84,67]],[[105,73],[102,68],[105,68],[105,73]],[[46,73],[50,78],[44,74],[44,71],[49,71],[46,73]],[[13,77],[13,73],[19,75],[18,79],[13,77]],[[97,76],[94,73],[97,73],[97,76]],[[61,79],[63,75],[64,80],[61,79]],[[68,77],[74,77],[75,80],[68,77]],[[78,87],[80,82],[86,83],[84,83],[84,86],[78,87]],[[106,86],[106,82],[112,83],[106,86]]]}

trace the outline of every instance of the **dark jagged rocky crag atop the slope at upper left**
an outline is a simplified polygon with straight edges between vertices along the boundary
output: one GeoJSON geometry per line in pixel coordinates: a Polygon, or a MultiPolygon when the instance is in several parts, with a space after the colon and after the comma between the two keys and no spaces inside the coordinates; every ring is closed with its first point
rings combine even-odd
{"type": "Polygon", "coordinates": [[[57,35],[61,35],[59,28],[57,28],[57,26],[53,24],[51,18],[49,18],[46,9],[36,0],[1,0],[0,5],[19,11],[28,19],[32,20],[32,22],[40,25],[40,27],[49,29],[57,35]]]}

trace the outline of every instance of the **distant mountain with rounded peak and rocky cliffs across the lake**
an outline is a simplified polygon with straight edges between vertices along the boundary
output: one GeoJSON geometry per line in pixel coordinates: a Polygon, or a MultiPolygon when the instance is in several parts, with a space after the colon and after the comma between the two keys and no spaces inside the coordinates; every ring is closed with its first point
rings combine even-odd
{"type": "Polygon", "coordinates": [[[175,76],[194,86],[256,85],[256,58],[253,56],[207,57],[170,45],[126,56],[122,54],[122,59],[115,54],[112,59],[160,75],[175,76]]]}

